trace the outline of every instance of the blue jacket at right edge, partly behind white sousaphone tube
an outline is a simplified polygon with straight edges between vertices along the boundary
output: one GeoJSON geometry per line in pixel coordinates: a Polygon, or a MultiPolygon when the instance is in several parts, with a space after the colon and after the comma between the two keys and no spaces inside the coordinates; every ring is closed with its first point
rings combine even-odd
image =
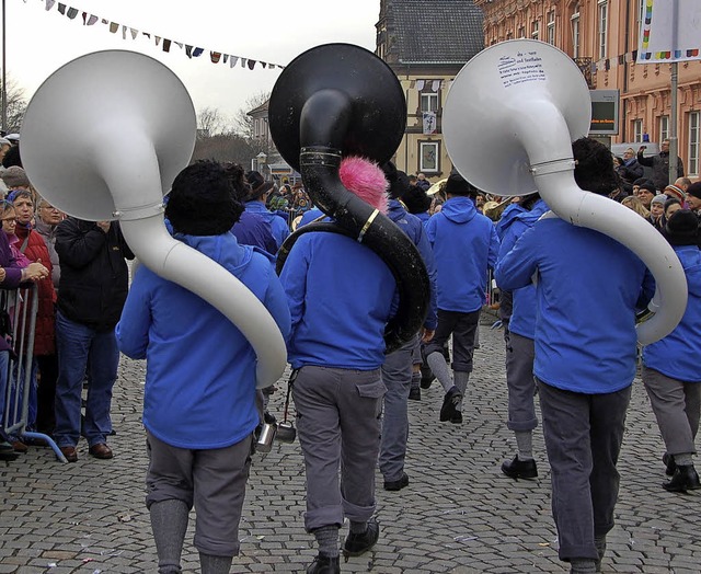
{"type": "Polygon", "coordinates": [[[696,245],[674,250],[687,276],[689,299],[677,328],[665,338],[643,349],[643,364],[667,377],[685,382],[701,382],[701,252],[696,245]]]}

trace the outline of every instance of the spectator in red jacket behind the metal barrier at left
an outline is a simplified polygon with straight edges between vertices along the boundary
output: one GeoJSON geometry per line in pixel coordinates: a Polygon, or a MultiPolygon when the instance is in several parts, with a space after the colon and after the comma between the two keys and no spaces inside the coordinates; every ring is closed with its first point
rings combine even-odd
{"type": "MultiPolygon", "coordinates": [[[[10,168],[11,171],[15,168],[10,168]]],[[[16,168],[19,169],[19,168],[16,168]]],[[[5,172],[7,173],[7,172],[5,172]]],[[[34,329],[34,365],[32,368],[31,415],[27,427],[41,433],[51,434],[54,429],[54,403],[51,398],[56,388],[56,289],[54,289],[54,265],[46,242],[34,229],[36,221],[34,211],[35,194],[30,190],[15,190],[8,197],[12,200],[16,213],[14,233],[18,237],[20,251],[32,262],[42,263],[48,271],[48,277],[37,282],[38,308],[34,329]],[[38,377],[37,377],[38,374],[38,377]],[[36,392],[35,392],[36,391],[36,392]]],[[[18,445],[24,449],[22,443],[18,445]]]]}

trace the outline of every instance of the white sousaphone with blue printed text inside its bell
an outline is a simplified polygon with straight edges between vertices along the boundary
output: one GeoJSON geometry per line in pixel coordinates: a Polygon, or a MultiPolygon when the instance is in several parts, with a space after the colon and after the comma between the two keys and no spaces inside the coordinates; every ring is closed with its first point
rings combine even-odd
{"type": "Polygon", "coordinates": [[[595,229],[635,253],[654,275],[654,315],[637,325],[647,345],[669,334],[687,307],[676,253],[633,210],[581,190],[572,142],[587,135],[588,87],[563,51],[543,42],[508,41],[485,48],[460,70],[446,101],[443,131],[456,169],[484,192],[539,192],[560,218],[595,229]]]}

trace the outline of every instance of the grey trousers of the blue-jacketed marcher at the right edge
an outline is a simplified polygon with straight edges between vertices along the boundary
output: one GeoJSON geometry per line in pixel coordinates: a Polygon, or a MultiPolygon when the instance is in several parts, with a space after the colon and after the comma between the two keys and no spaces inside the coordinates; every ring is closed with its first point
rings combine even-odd
{"type": "Polygon", "coordinates": [[[669,455],[696,454],[701,382],[683,382],[643,367],[643,383],[669,455]]]}

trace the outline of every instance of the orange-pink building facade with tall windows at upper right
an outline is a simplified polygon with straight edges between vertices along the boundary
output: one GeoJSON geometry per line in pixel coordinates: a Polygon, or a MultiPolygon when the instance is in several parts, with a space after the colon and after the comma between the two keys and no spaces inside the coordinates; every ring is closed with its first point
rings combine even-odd
{"type": "MultiPolygon", "coordinates": [[[[548,42],[577,64],[591,90],[618,90],[612,144],[659,142],[671,134],[671,65],[636,64],[645,0],[474,0],[486,46],[512,38],[548,42]]],[[[701,61],[677,65],[678,153],[699,177],[701,61]]],[[[633,146],[637,149],[637,146],[633,146]]]]}

